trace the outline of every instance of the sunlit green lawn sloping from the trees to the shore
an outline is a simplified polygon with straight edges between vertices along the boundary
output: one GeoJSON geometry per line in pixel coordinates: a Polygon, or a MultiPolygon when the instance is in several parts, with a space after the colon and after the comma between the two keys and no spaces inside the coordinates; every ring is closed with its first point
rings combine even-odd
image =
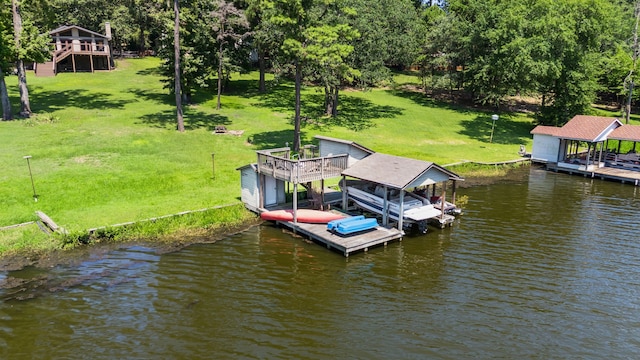
{"type": "MultiPolygon", "coordinates": [[[[112,72],[50,78],[29,73],[31,106],[38,116],[0,122],[0,227],[32,221],[36,210],[81,231],[238,203],[235,169],[254,161],[256,149],[291,143],[291,83],[271,81],[269,92],[261,95],[257,74],[237,75],[220,111],[215,89],[200,92],[194,97],[197,105],[185,108],[187,132],[181,134],[175,131],[173,96],[163,89],[158,65],[158,59],[145,58],[121,61],[112,72]],[[51,118],[55,121],[48,122],[51,118]],[[216,125],[244,134],[214,135],[216,125]],[[32,156],[38,202],[25,155],[32,156]]],[[[400,83],[410,82],[401,76],[400,83]]],[[[16,78],[6,80],[17,110],[16,78]]],[[[530,118],[500,114],[490,144],[490,113],[437,103],[420,93],[343,91],[336,119],[319,115],[321,91],[306,88],[302,101],[309,119],[303,142],[326,135],[440,164],[509,160],[517,157],[520,144],[530,149],[530,118]]],[[[16,236],[0,233],[3,237],[16,236]]]]}

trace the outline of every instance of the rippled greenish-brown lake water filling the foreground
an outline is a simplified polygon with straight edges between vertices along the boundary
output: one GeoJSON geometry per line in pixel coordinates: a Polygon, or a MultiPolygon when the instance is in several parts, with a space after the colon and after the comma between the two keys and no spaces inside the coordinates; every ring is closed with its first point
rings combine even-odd
{"type": "Polygon", "coordinates": [[[637,358],[639,191],[533,169],[348,259],[263,225],[0,273],[0,358],[637,358]]]}

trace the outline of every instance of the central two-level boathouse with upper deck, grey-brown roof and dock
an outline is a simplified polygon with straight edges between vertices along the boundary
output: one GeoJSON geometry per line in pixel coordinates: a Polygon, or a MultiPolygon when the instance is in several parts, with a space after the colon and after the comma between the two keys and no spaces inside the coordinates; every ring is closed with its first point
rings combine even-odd
{"type": "MultiPolygon", "coordinates": [[[[288,147],[256,151],[256,163],[237,169],[241,174],[241,198],[245,206],[256,213],[264,213],[266,218],[269,214],[289,212],[288,219],[278,217],[275,221],[345,256],[401,239],[404,235],[403,221],[399,219],[397,228],[394,228],[389,216],[385,215],[389,214],[387,211],[383,213],[382,226],[348,236],[328,231],[326,224],[299,222],[297,214],[302,213],[299,208],[351,216],[350,211],[356,207],[349,206],[348,194],[336,190],[335,186],[325,186],[325,180],[331,178],[336,182],[341,178],[345,183],[347,178],[370,181],[389,192],[404,192],[417,187],[425,191],[432,186],[435,193],[436,184],[442,184],[442,214],[435,205],[430,211],[434,212],[433,216],[442,215],[441,222],[450,224],[453,216],[444,214],[444,209],[451,203],[445,201],[444,194],[446,183],[453,180],[452,199],[455,199],[455,181],[462,180],[458,175],[431,162],[376,153],[352,141],[325,136],[316,136],[316,140],[318,145],[306,145],[298,154],[292,153],[288,147]],[[299,188],[305,189],[302,198],[298,194],[299,188]]],[[[308,210],[305,211],[308,214],[308,210]]]]}

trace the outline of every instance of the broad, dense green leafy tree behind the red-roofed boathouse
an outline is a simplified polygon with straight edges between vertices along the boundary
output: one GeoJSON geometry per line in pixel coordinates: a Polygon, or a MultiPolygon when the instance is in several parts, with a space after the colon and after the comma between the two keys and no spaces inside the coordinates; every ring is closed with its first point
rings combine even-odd
{"type": "Polygon", "coordinates": [[[541,95],[540,121],[558,125],[589,111],[602,60],[615,49],[611,2],[451,0],[446,10],[462,34],[452,60],[476,101],[541,95]]]}

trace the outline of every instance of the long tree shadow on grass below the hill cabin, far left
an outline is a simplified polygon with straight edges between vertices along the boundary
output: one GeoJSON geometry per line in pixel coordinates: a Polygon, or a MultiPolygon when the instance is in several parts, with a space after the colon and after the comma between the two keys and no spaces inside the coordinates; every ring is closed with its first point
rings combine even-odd
{"type": "Polygon", "coordinates": [[[50,91],[34,88],[30,94],[32,109],[40,112],[52,112],[68,107],[81,109],[122,109],[132,100],[114,100],[113,95],[97,93],[84,89],[50,91]]]}

